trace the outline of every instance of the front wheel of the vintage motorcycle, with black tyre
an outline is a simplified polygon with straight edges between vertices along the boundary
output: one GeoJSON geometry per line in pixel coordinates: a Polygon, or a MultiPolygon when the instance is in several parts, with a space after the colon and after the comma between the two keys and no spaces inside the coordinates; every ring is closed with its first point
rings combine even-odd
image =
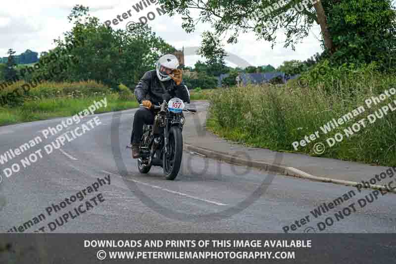
{"type": "Polygon", "coordinates": [[[179,174],[183,158],[183,136],[180,128],[173,126],[169,131],[168,154],[164,153],[163,170],[167,180],[174,180],[179,174]]]}

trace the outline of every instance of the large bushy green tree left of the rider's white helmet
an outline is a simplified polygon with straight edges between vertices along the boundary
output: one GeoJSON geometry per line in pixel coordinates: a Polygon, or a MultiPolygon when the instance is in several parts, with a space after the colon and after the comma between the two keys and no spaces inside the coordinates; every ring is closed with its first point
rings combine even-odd
{"type": "Polygon", "coordinates": [[[136,27],[131,33],[113,30],[91,17],[89,8],[76,5],[68,16],[73,23],[64,40],[54,40],[56,48],[40,57],[43,67],[37,74],[49,74],[55,67],[64,70],[51,77],[55,81],[96,80],[114,89],[123,83],[134,87],[143,74],[155,68],[157,59],[175,49],[151,29],[136,27]],[[45,63],[55,54],[57,59],[45,63]]]}

